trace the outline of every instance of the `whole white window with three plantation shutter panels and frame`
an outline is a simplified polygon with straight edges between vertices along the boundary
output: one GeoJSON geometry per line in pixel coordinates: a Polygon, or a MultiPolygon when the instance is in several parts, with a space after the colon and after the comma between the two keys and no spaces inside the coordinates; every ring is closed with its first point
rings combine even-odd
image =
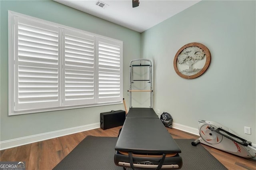
{"type": "Polygon", "coordinates": [[[122,103],[122,42],[8,12],[9,115],[122,103]]]}

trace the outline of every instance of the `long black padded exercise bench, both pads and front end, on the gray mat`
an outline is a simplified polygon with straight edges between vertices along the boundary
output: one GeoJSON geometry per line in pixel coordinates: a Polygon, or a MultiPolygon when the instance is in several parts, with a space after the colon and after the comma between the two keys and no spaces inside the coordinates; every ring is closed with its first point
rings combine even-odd
{"type": "Polygon", "coordinates": [[[158,170],[182,167],[180,148],[152,108],[130,108],[115,150],[117,166],[158,170]]]}

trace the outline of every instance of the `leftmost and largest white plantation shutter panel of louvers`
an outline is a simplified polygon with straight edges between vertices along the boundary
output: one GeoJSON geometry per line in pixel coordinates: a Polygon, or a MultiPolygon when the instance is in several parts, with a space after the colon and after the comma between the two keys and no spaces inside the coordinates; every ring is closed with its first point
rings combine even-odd
{"type": "Polygon", "coordinates": [[[58,107],[58,28],[24,18],[15,23],[15,109],[58,107]]]}

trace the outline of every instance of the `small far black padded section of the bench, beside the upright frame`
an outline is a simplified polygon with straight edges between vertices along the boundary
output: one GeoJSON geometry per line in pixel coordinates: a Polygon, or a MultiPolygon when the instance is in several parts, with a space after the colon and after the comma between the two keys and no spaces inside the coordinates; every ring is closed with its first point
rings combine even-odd
{"type": "Polygon", "coordinates": [[[158,118],[152,108],[130,108],[126,118],[158,118]]]}

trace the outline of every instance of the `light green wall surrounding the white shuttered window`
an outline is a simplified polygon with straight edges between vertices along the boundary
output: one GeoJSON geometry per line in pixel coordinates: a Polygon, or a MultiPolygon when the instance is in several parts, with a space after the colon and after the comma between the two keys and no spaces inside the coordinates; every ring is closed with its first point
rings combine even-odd
{"type": "MultiPolygon", "coordinates": [[[[0,0],[0,9],[0,141],[99,123],[101,112],[124,110],[123,105],[110,105],[8,116],[8,10],[123,41],[124,75],[129,75],[130,60],[140,55],[140,33],[49,0],[0,0]]],[[[123,83],[127,97],[129,77],[123,83]]]]}

